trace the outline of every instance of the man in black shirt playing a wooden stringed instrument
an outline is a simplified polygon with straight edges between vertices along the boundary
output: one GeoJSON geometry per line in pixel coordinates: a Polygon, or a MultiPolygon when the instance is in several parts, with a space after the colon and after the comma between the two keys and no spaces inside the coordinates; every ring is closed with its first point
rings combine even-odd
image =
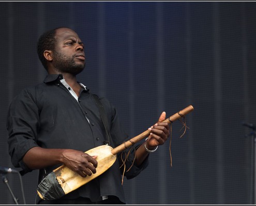
{"type": "MultiPolygon", "coordinates": [[[[115,108],[106,98],[99,98],[109,125],[104,128],[94,95],[77,81],[76,76],[85,67],[85,54],[76,32],[61,27],[43,33],[37,52],[48,76],[43,83],[22,90],[10,105],[7,129],[12,164],[22,169],[22,175],[40,169],[39,182],[63,164],[84,178],[91,176],[97,171],[97,154],[89,156],[85,151],[103,144],[114,148],[127,141],[128,136],[115,108]]],[[[127,179],[140,174],[148,165],[149,152],[167,140],[170,127],[160,123],[164,119],[162,112],[159,123],[148,129],[147,140],[133,146],[135,152],[126,161],[126,168],[130,168],[124,173],[127,179]]],[[[38,198],[39,204],[125,203],[120,158],[118,154],[107,171],[77,190],[56,200],[38,198]]]]}

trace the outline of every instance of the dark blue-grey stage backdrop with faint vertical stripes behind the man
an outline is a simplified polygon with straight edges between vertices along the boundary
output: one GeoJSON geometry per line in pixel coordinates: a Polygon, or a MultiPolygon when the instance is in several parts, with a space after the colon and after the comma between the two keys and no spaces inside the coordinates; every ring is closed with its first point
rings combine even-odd
{"type": "MultiPolygon", "coordinates": [[[[6,114],[21,89],[44,79],[39,35],[66,26],[85,43],[79,74],[116,106],[131,138],[192,105],[189,129],[173,123],[149,166],[124,181],[128,204],[252,204],[256,124],[256,2],[1,2],[0,166],[11,167],[6,114]],[[249,136],[246,136],[249,134],[249,136]]],[[[13,194],[34,204],[37,171],[7,174],[13,194]]],[[[0,204],[13,204],[4,181],[0,204]]]]}

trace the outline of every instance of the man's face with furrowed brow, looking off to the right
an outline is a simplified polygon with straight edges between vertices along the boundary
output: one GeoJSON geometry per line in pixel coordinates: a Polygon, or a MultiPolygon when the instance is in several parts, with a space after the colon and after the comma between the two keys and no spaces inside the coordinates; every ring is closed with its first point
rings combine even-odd
{"type": "Polygon", "coordinates": [[[53,66],[62,73],[77,75],[85,67],[84,46],[77,33],[68,28],[56,30],[53,66]]]}

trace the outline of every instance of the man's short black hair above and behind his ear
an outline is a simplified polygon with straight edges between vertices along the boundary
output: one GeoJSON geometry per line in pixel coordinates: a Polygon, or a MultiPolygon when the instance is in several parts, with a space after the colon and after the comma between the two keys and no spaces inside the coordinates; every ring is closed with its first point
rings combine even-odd
{"type": "Polygon", "coordinates": [[[44,58],[43,52],[45,50],[52,50],[52,51],[54,50],[55,43],[56,43],[56,38],[55,38],[56,30],[59,28],[67,28],[67,27],[58,27],[55,29],[48,30],[48,31],[44,32],[39,37],[38,42],[37,42],[37,54],[38,54],[38,57],[43,65],[43,67],[46,70],[48,70],[47,60],[46,60],[46,58],[44,58]]]}

